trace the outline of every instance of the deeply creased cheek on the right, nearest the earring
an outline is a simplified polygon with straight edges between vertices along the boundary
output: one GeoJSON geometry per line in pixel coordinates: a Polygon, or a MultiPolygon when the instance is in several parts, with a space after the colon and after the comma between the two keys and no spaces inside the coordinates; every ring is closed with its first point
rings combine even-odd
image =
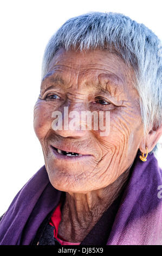
{"type": "MultiPolygon", "coordinates": [[[[105,150],[115,151],[120,161],[131,154],[134,159],[142,137],[142,121],[139,113],[132,111],[111,112],[110,132],[107,137],[100,137],[105,150]]],[[[132,160],[133,161],[133,160],[132,160]]]]}

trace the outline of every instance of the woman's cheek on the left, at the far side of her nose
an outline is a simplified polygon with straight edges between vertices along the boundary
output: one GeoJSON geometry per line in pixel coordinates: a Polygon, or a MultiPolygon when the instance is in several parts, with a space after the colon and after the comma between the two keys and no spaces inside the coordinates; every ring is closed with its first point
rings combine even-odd
{"type": "Polygon", "coordinates": [[[47,106],[46,102],[38,100],[34,107],[34,131],[40,141],[44,139],[47,132],[51,129],[51,108],[47,106]]]}

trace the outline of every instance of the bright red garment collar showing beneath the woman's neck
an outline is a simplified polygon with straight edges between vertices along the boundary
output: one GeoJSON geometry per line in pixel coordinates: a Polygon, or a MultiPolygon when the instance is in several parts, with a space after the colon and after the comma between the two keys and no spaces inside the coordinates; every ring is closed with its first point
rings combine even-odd
{"type": "Polygon", "coordinates": [[[61,245],[80,245],[80,243],[71,243],[66,240],[64,240],[59,234],[58,234],[58,229],[59,229],[59,224],[61,221],[61,205],[62,203],[60,202],[55,211],[53,212],[53,215],[51,216],[49,224],[55,227],[54,229],[54,237],[61,243],[61,245]]]}

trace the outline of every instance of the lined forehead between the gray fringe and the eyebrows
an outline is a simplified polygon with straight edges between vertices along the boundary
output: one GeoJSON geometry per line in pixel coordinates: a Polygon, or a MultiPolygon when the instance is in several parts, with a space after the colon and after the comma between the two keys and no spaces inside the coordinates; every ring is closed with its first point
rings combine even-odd
{"type": "Polygon", "coordinates": [[[44,83],[57,83],[65,86],[73,80],[86,83],[86,86],[111,83],[114,86],[123,85],[132,79],[131,71],[120,57],[108,51],[94,50],[88,52],[59,50],[51,60],[44,83]]]}

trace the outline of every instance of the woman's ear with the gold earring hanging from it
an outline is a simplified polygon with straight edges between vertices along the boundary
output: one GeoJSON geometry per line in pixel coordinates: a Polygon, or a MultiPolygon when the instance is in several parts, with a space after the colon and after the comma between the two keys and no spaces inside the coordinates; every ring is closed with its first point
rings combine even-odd
{"type": "Polygon", "coordinates": [[[142,139],[139,145],[139,149],[142,153],[146,154],[146,147],[148,153],[153,150],[157,142],[159,141],[162,135],[162,124],[155,130],[150,130],[147,135],[142,139]]]}

